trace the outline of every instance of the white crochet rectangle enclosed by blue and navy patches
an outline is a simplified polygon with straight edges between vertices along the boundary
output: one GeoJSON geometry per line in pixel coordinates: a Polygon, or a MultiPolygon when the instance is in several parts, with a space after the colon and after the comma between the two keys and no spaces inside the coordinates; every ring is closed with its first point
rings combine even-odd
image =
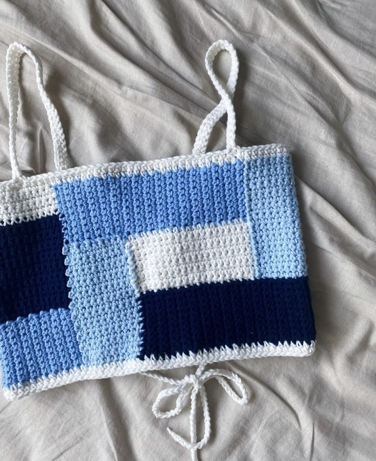
{"type": "Polygon", "coordinates": [[[253,280],[243,221],[142,233],[129,238],[140,292],[228,280],[253,280]]]}

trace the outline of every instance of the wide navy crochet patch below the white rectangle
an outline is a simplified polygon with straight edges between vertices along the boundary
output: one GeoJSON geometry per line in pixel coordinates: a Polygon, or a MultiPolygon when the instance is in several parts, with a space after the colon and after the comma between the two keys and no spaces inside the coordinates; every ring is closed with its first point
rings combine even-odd
{"type": "Polygon", "coordinates": [[[315,340],[308,278],[257,279],[147,291],[140,295],[140,358],[233,344],[315,340]]]}

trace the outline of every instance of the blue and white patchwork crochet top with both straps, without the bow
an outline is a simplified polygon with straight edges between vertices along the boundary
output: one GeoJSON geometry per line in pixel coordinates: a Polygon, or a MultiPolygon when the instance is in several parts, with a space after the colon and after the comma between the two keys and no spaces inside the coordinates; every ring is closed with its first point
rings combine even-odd
{"type": "Polygon", "coordinates": [[[26,47],[7,55],[13,178],[0,185],[0,353],[5,395],[192,364],[314,351],[291,157],[235,145],[236,52],[206,65],[220,104],[193,155],[66,169],[56,109],[26,47]],[[226,88],[214,76],[232,56],[226,88]],[[19,59],[48,111],[57,171],[22,175],[15,156],[19,59]],[[12,86],[13,85],[13,86],[12,86]],[[227,146],[207,153],[228,113],[227,146]]]}

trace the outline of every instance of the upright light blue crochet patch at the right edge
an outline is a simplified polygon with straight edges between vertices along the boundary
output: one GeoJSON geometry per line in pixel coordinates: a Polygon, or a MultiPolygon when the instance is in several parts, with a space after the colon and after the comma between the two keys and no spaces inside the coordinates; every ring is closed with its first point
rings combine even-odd
{"type": "Polygon", "coordinates": [[[307,275],[290,155],[248,160],[244,179],[255,277],[307,275]]]}

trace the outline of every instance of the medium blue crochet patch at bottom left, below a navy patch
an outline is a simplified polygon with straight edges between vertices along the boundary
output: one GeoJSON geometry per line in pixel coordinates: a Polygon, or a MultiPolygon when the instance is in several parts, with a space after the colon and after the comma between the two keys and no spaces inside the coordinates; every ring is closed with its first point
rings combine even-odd
{"type": "Polygon", "coordinates": [[[69,309],[51,309],[0,325],[2,384],[56,376],[82,364],[69,309]]]}

